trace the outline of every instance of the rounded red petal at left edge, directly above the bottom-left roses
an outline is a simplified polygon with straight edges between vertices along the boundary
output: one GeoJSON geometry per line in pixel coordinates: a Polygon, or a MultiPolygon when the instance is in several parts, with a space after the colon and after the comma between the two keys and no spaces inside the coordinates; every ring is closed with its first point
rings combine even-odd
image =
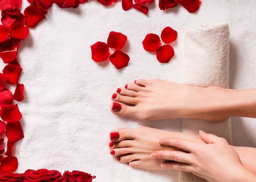
{"type": "Polygon", "coordinates": [[[6,173],[15,171],[18,167],[18,159],[15,156],[7,156],[1,160],[1,168],[6,173]]]}

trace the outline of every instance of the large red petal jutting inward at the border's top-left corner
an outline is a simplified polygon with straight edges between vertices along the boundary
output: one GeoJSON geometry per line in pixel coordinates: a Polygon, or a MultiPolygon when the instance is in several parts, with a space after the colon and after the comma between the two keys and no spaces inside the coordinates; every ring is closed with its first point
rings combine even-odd
{"type": "Polygon", "coordinates": [[[30,4],[30,6],[24,10],[24,15],[27,20],[27,26],[31,28],[34,28],[41,20],[45,18],[44,11],[40,10],[33,4],[30,4]]]}

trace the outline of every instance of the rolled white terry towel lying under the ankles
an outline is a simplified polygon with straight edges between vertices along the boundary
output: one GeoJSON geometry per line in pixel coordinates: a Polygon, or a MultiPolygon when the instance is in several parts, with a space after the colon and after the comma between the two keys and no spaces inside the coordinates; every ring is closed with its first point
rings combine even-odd
{"type": "MultiPolygon", "coordinates": [[[[185,35],[184,54],[184,83],[203,87],[229,87],[228,24],[189,27],[185,35]]],[[[216,134],[232,143],[230,118],[220,123],[182,119],[182,132],[198,134],[199,130],[216,134]]],[[[179,173],[179,182],[204,181],[192,173],[179,173]]]]}

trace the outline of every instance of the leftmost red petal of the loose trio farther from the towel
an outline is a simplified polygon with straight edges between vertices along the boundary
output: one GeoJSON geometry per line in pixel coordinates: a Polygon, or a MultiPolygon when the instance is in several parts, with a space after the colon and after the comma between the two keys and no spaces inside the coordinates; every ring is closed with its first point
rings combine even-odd
{"type": "Polygon", "coordinates": [[[92,59],[96,62],[106,61],[110,55],[108,44],[105,42],[96,42],[91,46],[92,59]]]}

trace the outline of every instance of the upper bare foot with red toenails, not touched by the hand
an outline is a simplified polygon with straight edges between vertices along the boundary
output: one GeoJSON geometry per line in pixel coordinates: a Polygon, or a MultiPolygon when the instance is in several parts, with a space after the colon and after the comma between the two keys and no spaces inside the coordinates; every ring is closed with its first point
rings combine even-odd
{"type": "MultiPolygon", "coordinates": [[[[223,88],[189,86],[170,81],[139,79],[112,95],[111,112],[140,120],[200,118],[223,121],[223,88]],[[218,95],[219,94],[219,95],[218,95]]],[[[227,113],[227,112],[226,112],[227,113]]]]}

